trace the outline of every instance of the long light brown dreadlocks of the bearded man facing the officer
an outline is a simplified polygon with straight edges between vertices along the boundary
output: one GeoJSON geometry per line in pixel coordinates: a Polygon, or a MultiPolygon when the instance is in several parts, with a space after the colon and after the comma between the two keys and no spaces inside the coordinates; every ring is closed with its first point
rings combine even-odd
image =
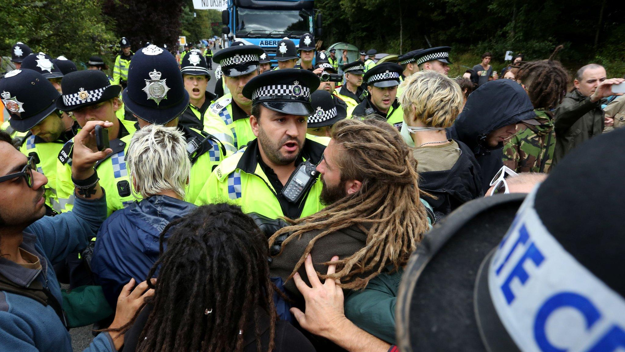
{"type": "Polygon", "coordinates": [[[332,128],[332,140],[336,143],[338,157],[334,163],[341,171],[341,180],[359,180],[361,189],[316,214],[287,219],[292,225],[271,236],[269,246],[281,234],[290,233],[282,242],[284,247],[304,232],[322,230],[309,242],[289,280],[317,240],[356,225],[367,234],[366,246],[332,262],[337,264],[335,274],[319,276],[347,281],[341,284],[346,289],[363,289],[385,266],[404,266],[429,229],[426,209],[419,200],[417,162],[396,128],[376,118],[337,122],[332,128]]]}

